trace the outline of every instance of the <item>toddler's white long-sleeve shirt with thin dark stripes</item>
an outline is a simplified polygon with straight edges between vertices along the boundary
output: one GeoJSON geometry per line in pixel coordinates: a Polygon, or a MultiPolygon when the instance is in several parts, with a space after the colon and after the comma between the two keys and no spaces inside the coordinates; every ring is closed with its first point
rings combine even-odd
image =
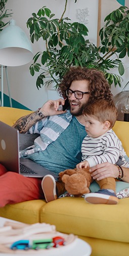
{"type": "Polygon", "coordinates": [[[98,138],[87,135],[82,141],[81,153],[82,161],[88,161],[90,167],[104,162],[116,164],[118,160],[119,165],[128,166],[122,143],[112,129],[98,138]]]}

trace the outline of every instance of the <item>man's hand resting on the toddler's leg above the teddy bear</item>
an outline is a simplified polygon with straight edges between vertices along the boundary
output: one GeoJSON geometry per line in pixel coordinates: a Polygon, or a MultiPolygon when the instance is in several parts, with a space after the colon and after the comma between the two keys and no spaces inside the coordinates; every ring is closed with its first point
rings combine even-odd
{"type": "Polygon", "coordinates": [[[97,164],[96,166],[91,167],[89,171],[93,179],[97,180],[101,180],[107,177],[116,178],[119,175],[117,166],[108,162],[97,164]]]}

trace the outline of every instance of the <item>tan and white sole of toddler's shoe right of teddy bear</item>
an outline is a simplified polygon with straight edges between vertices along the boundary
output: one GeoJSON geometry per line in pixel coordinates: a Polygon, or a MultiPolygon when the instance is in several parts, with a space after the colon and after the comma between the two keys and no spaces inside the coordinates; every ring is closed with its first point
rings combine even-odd
{"type": "Polygon", "coordinates": [[[119,199],[115,196],[91,193],[84,197],[84,200],[91,204],[117,204],[119,199]]]}

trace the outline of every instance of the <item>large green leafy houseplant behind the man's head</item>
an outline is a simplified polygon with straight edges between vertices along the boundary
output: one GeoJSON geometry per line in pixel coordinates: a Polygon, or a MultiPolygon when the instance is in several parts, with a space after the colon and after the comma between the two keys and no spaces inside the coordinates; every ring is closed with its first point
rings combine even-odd
{"type": "Polygon", "coordinates": [[[128,50],[128,9],[121,6],[105,18],[106,24],[100,30],[102,46],[97,48],[89,40],[85,40],[88,35],[85,25],[71,23],[68,18],[64,18],[67,2],[68,0],[65,1],[60,19],[56,19],[55,14],[44,6],[37,14],[32,13],[27,21],[31,42],[42,38],[46,44],[46,50],[36,53],[30,66],[32,76],[35,71],[41,71],[36,80],[37,88],[50,83],[58,88],[65,72],[72,65],[98,68],[104,72],[110,85],[114,83],[115,86],[120,86],[119,75],[124,73],[120,58],[125,56],[125,48],[128,50]],[[120,53],[119,56],[116,53],[120,53]],[[112,55],[115,56],[114,59],[111,58],[112,55]],[[119,75],[110,72],[111,68],[118,68],[119,75]]]}

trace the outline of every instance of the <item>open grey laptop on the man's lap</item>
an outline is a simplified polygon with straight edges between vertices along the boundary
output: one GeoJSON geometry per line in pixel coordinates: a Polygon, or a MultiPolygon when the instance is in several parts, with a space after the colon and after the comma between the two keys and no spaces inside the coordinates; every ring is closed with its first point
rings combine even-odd
{"type": "Polygon", "coordinates": [[[27,177],[58,177],[54,172],[27,158],[19,158],[19,131],[0,121],[0,163],[7,170],[27,177]]]}

